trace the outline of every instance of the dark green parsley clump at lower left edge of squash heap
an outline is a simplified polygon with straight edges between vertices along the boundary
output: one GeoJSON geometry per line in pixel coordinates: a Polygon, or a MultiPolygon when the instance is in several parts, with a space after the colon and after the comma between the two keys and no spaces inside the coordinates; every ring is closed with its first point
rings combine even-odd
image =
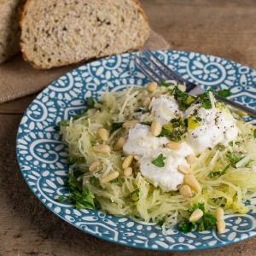
{"type": "Polygon", "coordinates": [[[77,209],[95,209],[95,197],[93,193],[84,188],[81,177],[84,172],[76,171],[68,174],[67,188],[70,195],[61,196],[57,201],[71,201],[77,209]],[[79,179],[80,177],[80,179],[79,179]]]}

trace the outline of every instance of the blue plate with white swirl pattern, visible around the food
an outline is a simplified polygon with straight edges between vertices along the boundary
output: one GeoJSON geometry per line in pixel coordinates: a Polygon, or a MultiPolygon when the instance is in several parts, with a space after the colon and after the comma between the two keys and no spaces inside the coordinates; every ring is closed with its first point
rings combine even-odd
{"type": "MultiPolygon", "coordinates": [[[[86,98],[104,90],[122,90],[148,82],[135,66],[134,54],[116,55],[79,67],[49,84],[27,108],[17,135],[17,157],[26,183],[50,211],[84,232],[132,247],[155,250],[195,250],[219,247],[256,235],[256,215],[225,217],[224,234],[213,231],[163,235],[159,226],[116,218],[101,211],[76,210],[56,201],[67,194],[67,146],[55,125],[84,109],[86,98]]],[[[230,88],[232,98],[256,108],[256,72],[233,61],[193,52],[158,51],[160,59],[197,84],[230,88]]],[[[256,204],[256,201],[252,202],[256,204]]]]}

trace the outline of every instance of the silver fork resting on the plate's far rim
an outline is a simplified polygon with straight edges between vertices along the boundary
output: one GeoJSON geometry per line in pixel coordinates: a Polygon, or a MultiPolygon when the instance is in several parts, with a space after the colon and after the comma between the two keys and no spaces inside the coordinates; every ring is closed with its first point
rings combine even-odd
{"type": "MultiPolygon", "coordinates": [[[[145,49],[140,57],[137,57],[136,63],[137,67],[146,75],[146,77],[159,84],[167,80],[175,80],[179,84],[186,85],[186,92],[188,92],[190,95],[198,95],[205,92],[205,90],[203,90],[200,86],[183,79],[178,73],[166,66],[166,64],[149,49],[145,49]],[[147,61],[143,61],[143,59],[147,61]]],[[[229,104],[234,108],[256,117],[256,109],[248,108],[223,96],[218,96],[216,93],[214,93],[214,96],[219,102],[229,104]]]]}

